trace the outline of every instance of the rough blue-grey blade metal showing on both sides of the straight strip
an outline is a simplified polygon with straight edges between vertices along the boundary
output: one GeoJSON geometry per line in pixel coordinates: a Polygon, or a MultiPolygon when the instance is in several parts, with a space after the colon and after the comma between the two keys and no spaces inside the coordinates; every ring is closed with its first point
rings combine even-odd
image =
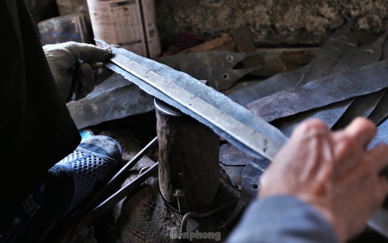
{"type": "MultiPolygon", "coordinates": [[[[255,114],[253,114],[251,111],[247,110],[243,106],[240,106],[237,103],[233,102],[224,94],[218,91],[215,91],[214,89],[200,83],[197,79],[193,78],[192,76],[189,76],[183,72],[174,70],[156,61],[138,56],[123,48],[116,48],[116,47],[112,47],[112,48],[114,53],[119,53],[123,56],[126,56],[127,58],[141,64],[147,69],[152,70],[154,73],[163,76],[163,78],[170,80],[174,84],[178,85],[180,88],[193,93],[198,98],[212,104],[214,107],[222,110],[224,113],[235,118],[237,121],[240,121],[246,126],[249,126],[257,133],[263,135],[264,137],[270,138],[278,146],[281,147],[287,142],[288,138],[285,137],[277,128],[263,121],[259,117],[255,116],[255,114]]],[[[120,67],[113,64],[112,62],[106,62],[105,65],[108,68],[112,69],[114,72],[125,76],[129,81],[135,83],[147,93],[161,99],[162,101],[166,102],[171,106],[178,108],[183,113],[188,114],[189,116],[193,117],[197,121],[200,121],[205,125],[209,126],[211,129],[214,130],[216,134],[225,138],[227,141],[234,144],[239,149],[243,150],[249,155],[261,158],[259,154],[257,154],[256,152],[253,152],[252,150],[248,149],[246,146],[242,145],[234,137],[228,136],[225,131],[217,128],[215,124],[211,124],[210,122],[206,121],[201,116],[199,116],[198,114],[194,114],[186,107],[180,105],[178,102],[167,97],[157,89],[150,87],[142,80],[130,75],[127,71],[121,69],[120,67]]]]}

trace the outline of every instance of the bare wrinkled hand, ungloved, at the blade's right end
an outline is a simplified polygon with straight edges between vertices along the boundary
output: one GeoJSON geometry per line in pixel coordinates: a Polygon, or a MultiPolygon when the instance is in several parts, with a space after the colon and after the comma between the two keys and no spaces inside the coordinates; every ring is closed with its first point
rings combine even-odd
{"type": "Polygon", "coordinates": [[[344,242],[388,194],[379,176],[388,165],[388,145],[366,150],[375,133],[374,124],[362,118],[337,132],[319,120],[301,124],[261,177],[259,197],[291,195],[309,203],[344,242]]]}

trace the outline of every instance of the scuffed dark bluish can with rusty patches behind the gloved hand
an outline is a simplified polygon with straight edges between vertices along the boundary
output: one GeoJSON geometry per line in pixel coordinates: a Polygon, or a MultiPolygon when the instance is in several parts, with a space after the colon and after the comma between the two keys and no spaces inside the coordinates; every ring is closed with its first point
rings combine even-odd
{"type": "Polygon", "coordinates": [[[61,15],[37,25],[42,45],[67,41],[93,44],[93,32],[87,15],[61,15]]]}

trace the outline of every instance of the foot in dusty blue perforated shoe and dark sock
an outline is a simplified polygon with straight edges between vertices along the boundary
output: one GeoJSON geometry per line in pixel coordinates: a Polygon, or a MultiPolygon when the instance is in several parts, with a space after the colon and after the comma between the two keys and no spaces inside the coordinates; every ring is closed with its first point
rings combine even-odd
{"type": "Polygon", "coordinates": [[[9,233],[0,240],[41,242],[58,219],[110,180],[121,156],[121,146],[113,138],[92,136],[82,140],[74,152],[50,168],[33,187],[9,233]]]}

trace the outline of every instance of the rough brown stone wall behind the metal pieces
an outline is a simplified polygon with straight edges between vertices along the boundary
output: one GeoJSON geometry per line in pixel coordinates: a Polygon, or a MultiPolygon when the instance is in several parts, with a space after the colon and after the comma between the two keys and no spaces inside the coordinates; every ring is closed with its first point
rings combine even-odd
{"type": "Polygon", "coordinates": [[[179,32],[210,40],[242,25],[258,46],[319,46],[350,21],[376,34],[388,19],[388,0],[156,0],[156,7],[163,46],[179,32]]]}

